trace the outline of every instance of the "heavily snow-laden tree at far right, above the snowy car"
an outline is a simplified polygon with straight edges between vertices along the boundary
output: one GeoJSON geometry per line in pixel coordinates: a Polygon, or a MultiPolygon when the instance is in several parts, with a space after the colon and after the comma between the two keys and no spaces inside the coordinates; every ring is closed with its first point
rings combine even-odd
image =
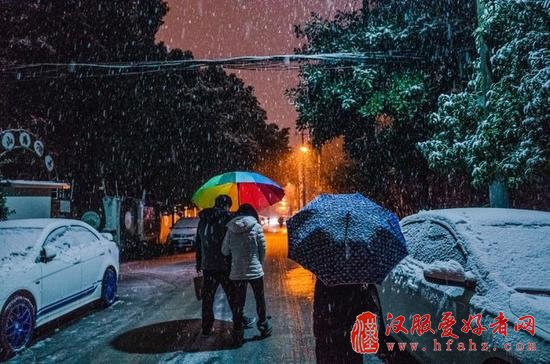
{"type": "Polygon", "coordinates": [[[474,186],[518,188],[548,172],[550,6],[484,5],[476,36],[488,48],[489,67],[478,60],[466,90],[441,95],[430,119],[435,132],[419,147],[432,168],[466,170],[474,186]]]}

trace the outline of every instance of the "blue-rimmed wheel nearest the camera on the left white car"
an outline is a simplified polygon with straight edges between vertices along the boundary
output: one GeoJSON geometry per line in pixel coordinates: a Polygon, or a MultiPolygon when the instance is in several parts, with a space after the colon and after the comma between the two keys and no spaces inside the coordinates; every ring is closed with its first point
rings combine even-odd
{"type": "Polygon", "coordinates": [[[23,350],[32,339],[35,307],[30,299],[16,295],[9,299],[0,316],[0,357],[23,350]]]}

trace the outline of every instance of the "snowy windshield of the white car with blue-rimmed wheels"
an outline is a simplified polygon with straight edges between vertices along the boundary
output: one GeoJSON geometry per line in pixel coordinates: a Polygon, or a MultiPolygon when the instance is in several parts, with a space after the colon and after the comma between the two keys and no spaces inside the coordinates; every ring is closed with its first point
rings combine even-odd
{"type": "Polygon", "coordinates": [[[0,228],[0,260],[27,255],[41,232],[42,228],[34,227],[0,228]]]}

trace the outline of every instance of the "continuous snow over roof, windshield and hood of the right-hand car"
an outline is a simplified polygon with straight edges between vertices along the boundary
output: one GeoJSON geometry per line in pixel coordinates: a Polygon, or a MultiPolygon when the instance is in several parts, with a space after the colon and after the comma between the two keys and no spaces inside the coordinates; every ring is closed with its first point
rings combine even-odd
{"type": "MultiPolygon", "coordinates": [[[[483,294],[471,305],[496,315],[510,311],[518,317],[533,315],[537,330],[550,337],[550,213],[494,208],[423,211],[402,220],[435,219],[458,234],[475,262],[483,294]],[[490,285],[484,287],[484,282],[490,285]]],[[[417,272],[419,274],[419,272],[417,272]]],[[[549,340],[549,339],[546,339],[549,340]]]]}

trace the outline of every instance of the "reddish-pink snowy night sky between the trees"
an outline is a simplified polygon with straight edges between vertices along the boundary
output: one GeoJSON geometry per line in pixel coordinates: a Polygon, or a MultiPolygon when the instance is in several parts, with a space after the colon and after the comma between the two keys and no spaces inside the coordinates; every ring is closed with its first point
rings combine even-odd
{"type": "MultiPolygon", "coordinates": [[[[361,0],[167,0],[170,10],[157,39],[195,58],[293,53],[300,46],[294,24],[311,12],[333,17],[361,7],[361,0]]],[[[294,127],[296,111],[284,95],[298,83],[297,71],[237,71],[267,111],[268,121],[294,127]]],[[[291,141],[299,138],[294,129],[291,141]]]]}

